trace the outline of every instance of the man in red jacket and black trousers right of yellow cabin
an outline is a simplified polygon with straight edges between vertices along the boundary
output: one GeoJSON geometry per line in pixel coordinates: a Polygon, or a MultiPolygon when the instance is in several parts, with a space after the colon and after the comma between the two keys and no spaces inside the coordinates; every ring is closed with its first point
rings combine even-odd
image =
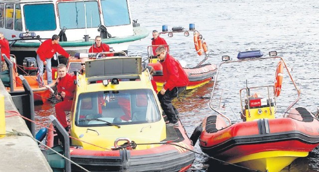
{"type": "Polygon", "coordinates": [[[171,100],[186,88],[189,80],[179,62],[167,53],[165,47],[158,47],[156,54],[163,67],[163,77],[165,80],[163,88],[158,93],[160,105],[169,123],[173,126],[178,126],[177,115],[171,104],[171,100]]]}

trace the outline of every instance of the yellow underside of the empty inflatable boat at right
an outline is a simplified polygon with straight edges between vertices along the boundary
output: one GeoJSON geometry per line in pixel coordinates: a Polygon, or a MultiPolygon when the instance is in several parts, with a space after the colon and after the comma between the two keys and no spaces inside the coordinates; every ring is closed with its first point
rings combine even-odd
{"type": "Polygon", "coordinates": [[[268,151],[251,154],[227,161],[261,172],[280,172],[299,157],[307,157],[309,152],[268,151]]]}

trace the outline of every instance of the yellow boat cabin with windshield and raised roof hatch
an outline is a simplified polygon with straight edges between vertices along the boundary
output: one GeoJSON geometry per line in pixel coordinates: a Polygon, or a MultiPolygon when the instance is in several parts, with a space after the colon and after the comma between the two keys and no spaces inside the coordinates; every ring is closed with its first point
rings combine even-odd
{"type": "MultiPolygon", "coordinates": [[[[160,103],[151,84],[150,73],[142,70],[141,57],[98,58],[85,62],[85,71],[83,75],[77,74],[71,112],[72,136],[79,137],[88,128],[100,134],[116,132],[120,128],[121,131],[131,131],[132,128],[128,127],[134,125],[139,131],[152,132],[164,139],[165,124],[160,103]],[[151,123],[152,128],[148,128],[151,123]]],[[[112,145],[118,137],[111,135],[105,142],[112,145]]],[[[138,136],[132,136],[135,137],[138,136]]],[[[76,140],[72,143],[82,144],[76,140]]]]}

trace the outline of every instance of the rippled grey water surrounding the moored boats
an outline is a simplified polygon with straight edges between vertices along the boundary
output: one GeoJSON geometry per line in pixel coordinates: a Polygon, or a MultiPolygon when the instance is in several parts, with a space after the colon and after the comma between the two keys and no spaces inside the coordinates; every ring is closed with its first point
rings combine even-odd
{"type": "MultiPolygon", "coordinates": [[[[219,64],[222,55],[233,59],[239,51],[258,48],[265,55],[269,51],[277,51],[285,58],[292,68],[292,75],[302,90],[302,96],[295,107],[302,106],[310,111],[319,107],[319,1],[317,0],[131,0],[133,19],[138,19],[142,26],[150,30],[149,37],[134,42],[129,47],[129,55],[147,57],[147,46],[151,44],[154,29],[161,30],[161,25],[188,28],[194,23],[205,38],[210,58],[207,63],[219,64]]],[[[112,34],[112,33],[111,33],[112,34]]],[[[196,55],[193,37],[174,34],[172,38],[162,35],[170,45],[170,54],[179,60],[188,62],[188,67],[195,66],[203,57],[196,55]]],[[[257,63],[257,62],[256,62],[257,63]]],[[[256,65],[256,64],[252,64],[256,65]]],[[[245,69],[242,69],[245,70],[245,69]]],[[[240,69],[225,77],[236,80],[240,69]],[[234,77],[236,75],[236,77],[234,77]],[[232,78],[233,77],[233,78],[232,78]]],[[[274,75],[275,71],[271,71],[274,75]]],[[[258,74],[256,74],[258,76],[258,74]]],[[[284,78],[284,82],[285,82],[284,78]]],[[[288,79],[287,79],[288,80],[288,79]]],[[[201,120],[212,114],[208,99],[199,96],[209,96],[213,83],[191,91],[182,101],[175,101],[180,111],[180,119],[190,136],[201,120]]],[[[236,88],[237,85],[233,85],[236,88]]],[[[283,87],[287,95],[295,91],[283,87]]],[[[290,99],[289,99],[290,98],[290,99]]],[[[288,99],[279,98],[278,104],[287,107],[288,99]]],[[[37,120],[47,123],[47,115],[53,114],[52,105],[36,106],[37,120]]],[[[235,112],[238,114],[238,112],[235,112]]],[[[195,145],[198,152],[198,143],[195,145]]],[[[283,172],[313,172],[319,171],[319,150],[315,149],[307,158],[297,159],[283,172]]],[[[196,155],[190,171],[219,172],[221,167],[207,158],[196,155]]],[[[223,169],[225,170],[225,169],[223,169]]],[[[231,171],[241,171],[231,169],[231,171]]]]}

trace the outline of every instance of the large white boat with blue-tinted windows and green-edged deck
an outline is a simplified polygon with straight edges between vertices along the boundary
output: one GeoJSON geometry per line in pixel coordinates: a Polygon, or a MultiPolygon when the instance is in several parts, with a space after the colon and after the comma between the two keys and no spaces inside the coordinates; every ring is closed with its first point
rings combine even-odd
{"type": "Polygon", "coordinates": [[[14,40],[10,50],[18,62],[35,57],[40,41],[54,34],[71,55],[87,52],[98,35],[114,51],[126,53],[130,42],[149,35],[133,20],[129,0],[1,0],[0,32],[14,40]],[[18,38],[26,32],[35,35],[18,38]]]}

